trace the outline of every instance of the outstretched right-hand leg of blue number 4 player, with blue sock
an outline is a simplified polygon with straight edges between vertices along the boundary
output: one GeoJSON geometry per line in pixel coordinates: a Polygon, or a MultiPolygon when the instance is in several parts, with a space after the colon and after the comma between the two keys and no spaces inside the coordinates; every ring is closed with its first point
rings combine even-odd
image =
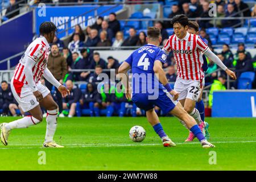
{"type": "Polygon", "coordinates": [[[196,136],[196,138],[200,141],[201,145],[204,148],[215,147],[213,144],[209,143],[205,139],[204,134],[200,130],[199,126],[197,125],[197,123],[195,121],[195,119],[193,117],[191,117],[191,115],[189,115],[187,113],[187,111],[185,111],[183,109],[183,107],[181,106],[181,104],[179,102],[176,104],[174,109],[172,109],[170,111],[170,113],[175,115],[177,118],[179,118],[179,119],[181,119],[182,121],[185,122],[188,129],[196,136]]]}

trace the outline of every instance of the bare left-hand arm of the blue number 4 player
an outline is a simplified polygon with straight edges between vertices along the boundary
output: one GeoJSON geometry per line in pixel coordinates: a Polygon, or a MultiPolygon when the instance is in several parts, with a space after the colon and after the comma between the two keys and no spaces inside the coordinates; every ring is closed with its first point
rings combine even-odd
{"type": "Polygon", "coordinates": [[[122,85],[125,87],[125,96],[127,99],[131,100],[131,87],[129,85],[129,77],[127,71],[131,68],[130,64],[124,61],[118,68],[119,77],[121,79],[122,85]]]}

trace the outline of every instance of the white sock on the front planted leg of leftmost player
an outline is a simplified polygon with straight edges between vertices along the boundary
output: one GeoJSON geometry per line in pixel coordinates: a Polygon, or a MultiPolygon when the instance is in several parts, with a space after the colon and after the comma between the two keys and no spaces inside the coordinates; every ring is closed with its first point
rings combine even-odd
{"type": "Polygon", "coordinates": [[[46,142],[52,142],[57,127],[58,109],[47,110],[46,142]]]}

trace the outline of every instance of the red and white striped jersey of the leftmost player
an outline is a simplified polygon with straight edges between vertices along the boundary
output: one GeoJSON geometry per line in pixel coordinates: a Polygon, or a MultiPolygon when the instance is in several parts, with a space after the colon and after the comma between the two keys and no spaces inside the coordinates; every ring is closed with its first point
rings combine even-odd
{"type": "Polygon", "coordinates": [[[47,67],[48,55],[49,44],[44,36],[40,36],[40,38],[35,39],[28,46],[26,52],[19,60],[19,64],[16,65],[14,71],[14,80],[22,82],[23,84],[27,84],[26,76],[24,73],[24,65],[28,57],[30,57],[30,59],[35,61],[35,65],[32,68],[32,73],[35,83],[38,83],[44,73],[44,69],[47,67]]]}

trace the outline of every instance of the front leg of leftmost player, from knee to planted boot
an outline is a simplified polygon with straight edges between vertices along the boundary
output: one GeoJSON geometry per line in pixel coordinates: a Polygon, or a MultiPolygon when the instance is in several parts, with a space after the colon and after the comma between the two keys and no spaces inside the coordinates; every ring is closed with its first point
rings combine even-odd
{"type": "Polygon", "coordinates": [[[58,105],[53,100],[51,94],[48,94],[43,98],[43,100],[40,102],[40,106],[47,110],[47,127],[44,147],[63,147],[53,141],[53,137],[57,128],[58,105]]]}

